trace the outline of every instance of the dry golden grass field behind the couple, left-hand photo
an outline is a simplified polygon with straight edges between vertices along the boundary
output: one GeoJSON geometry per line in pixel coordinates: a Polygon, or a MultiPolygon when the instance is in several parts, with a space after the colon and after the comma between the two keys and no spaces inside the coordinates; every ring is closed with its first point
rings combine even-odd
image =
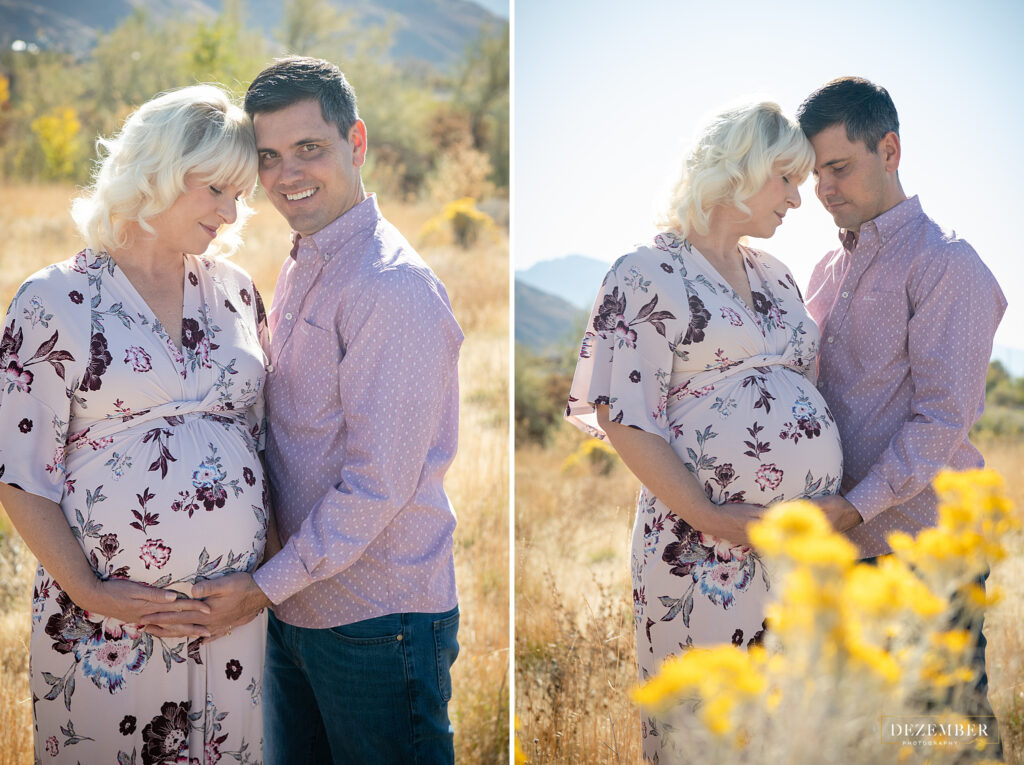
{"type": "MultiPolygon", "coordinates": [[[[68,214],[67,185],[0,188],[0,302],[4,309],[33,271],[81,245],[68,214]]],[[[437,213],[426,204],[380,200],[384,214],[413,244],[437,213]]],[[[252,273],[269,305],[288,225],[263,199],[236,259],[252,273]]],[[[460,450],[445,486],[459,516],[456,567],[462,650],[453,674],[450,712],[460,763],[508,761],[508,238],[472,250],[421,248],[445,283],[464,332],[460,360],[460,450]]],[[[35,561],[0,512],[0,765],[32,762],[28,689],[29,608],[35,561]]]]}

